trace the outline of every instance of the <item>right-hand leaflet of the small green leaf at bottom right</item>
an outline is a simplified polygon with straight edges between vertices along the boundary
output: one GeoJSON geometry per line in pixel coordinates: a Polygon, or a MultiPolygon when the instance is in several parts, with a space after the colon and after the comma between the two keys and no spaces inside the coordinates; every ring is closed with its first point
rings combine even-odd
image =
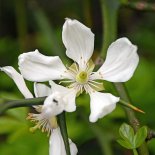
{"type": "Polygon", "coordinates": [[[135,148],[139,147],[145,141],[146,137],[147,137],[147,127],[143,126],[137,131],[136,135],[134,136],[135,148]]]}

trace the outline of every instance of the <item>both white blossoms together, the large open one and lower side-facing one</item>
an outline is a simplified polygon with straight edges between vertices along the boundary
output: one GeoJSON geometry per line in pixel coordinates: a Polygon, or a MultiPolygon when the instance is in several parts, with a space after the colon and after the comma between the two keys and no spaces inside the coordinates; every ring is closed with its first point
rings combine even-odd
{"type": "MultiPolygon", "coordinates": [[[[77,20],[66,19],[62,40],[66,55],[73,60],[70,67],[66,67],[58,56],[45,56],[35,50],[19,56],[21,74],[11,66],[1,68],[14,80],[25,98],[32,98],[33,95],[26,87],[24,79],[34,82],[35,97],[47,96],[43,106],[34,107],[38,114],[29,114],[28,119],[36,122],[32,130],[41,128],[51,135],[50,155],[66,154],[55,116],[63,111],[75,111],[75,98],[83,92],[90,95],[90,122],[96,122],[111,113],[120,98],[103,92],[101,80],[126,82],[132,77],[139,62],[137,47],[127,38],[120,38],[109,46],[105,62],[94,72],[95,64],[91,59],[94,34],[77,20]],[[59,80],[60,83],[56,84],[54,80],[59,80]],[[41,83],[46,81],[50,87],[41,83]],[[63,83],[66,87],[60,85],[63,83]]],[[[75,144],[69,141],[71,154],[77,154],[75,144]]]]}

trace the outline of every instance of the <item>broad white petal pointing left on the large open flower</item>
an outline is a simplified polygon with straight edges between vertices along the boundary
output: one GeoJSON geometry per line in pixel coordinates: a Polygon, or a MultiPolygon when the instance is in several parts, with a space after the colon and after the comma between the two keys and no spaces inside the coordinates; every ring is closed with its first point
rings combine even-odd
{"type": "Polygon", "coordinates": [[[23,77],[35,82],[61,79],[66,71],[58,56],[45,56],[38,50],[21,54],[18,65],[23,77]]]}

